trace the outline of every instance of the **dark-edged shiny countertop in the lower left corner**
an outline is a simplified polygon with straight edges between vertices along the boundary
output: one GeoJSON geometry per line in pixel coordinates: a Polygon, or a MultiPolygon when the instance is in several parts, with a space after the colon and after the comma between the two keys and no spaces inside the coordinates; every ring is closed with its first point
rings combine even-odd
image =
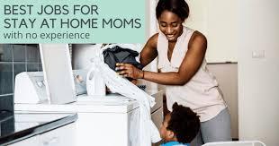
{"type": "Polygon", "coordinates": [[[0,145],[19,142],[75,122],[76,114],[27,114],[1,111],[0,145]]]}

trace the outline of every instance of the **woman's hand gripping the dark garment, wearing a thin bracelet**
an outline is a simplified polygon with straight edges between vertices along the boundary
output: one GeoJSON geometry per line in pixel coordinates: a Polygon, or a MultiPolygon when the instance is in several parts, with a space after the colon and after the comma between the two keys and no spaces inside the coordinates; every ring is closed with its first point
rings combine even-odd
{"type": "Polygon", "coordinates": [[[142,79],[144,77],[143,71],[132,64],[116,63],[115,70],[123,77],[130,77],[132,79],[142,79]]]}

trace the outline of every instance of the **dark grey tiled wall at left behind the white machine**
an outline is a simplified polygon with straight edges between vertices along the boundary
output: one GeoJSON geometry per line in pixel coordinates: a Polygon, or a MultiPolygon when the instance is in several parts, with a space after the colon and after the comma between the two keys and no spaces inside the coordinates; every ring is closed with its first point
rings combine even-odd
{"type": "Polygon", "coordinates": [[[0,44],[0,110],[14,111],[14,78],[41,71],[38,45],[0,44]]]}

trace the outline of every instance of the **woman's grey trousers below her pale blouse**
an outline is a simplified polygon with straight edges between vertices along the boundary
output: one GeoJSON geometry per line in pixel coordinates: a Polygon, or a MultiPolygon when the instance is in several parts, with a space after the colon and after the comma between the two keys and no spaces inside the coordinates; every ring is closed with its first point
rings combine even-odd
{"type": "Polygon", "coordinates": [[[201,130],[191,142],[191,146],[201,146],[206,142],[226,141],[231,141],[228,107],[211,120],[201,123],[201,130]]]}

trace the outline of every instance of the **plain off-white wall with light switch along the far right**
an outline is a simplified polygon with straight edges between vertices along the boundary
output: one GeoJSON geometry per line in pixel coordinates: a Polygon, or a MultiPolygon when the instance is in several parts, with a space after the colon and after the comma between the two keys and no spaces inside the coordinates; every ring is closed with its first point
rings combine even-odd
{"type": "Polygon", "coordinates": [[[278,6],[278,0],[238,0],[239,139],[267,146],[279,145],[278,6]]]}

